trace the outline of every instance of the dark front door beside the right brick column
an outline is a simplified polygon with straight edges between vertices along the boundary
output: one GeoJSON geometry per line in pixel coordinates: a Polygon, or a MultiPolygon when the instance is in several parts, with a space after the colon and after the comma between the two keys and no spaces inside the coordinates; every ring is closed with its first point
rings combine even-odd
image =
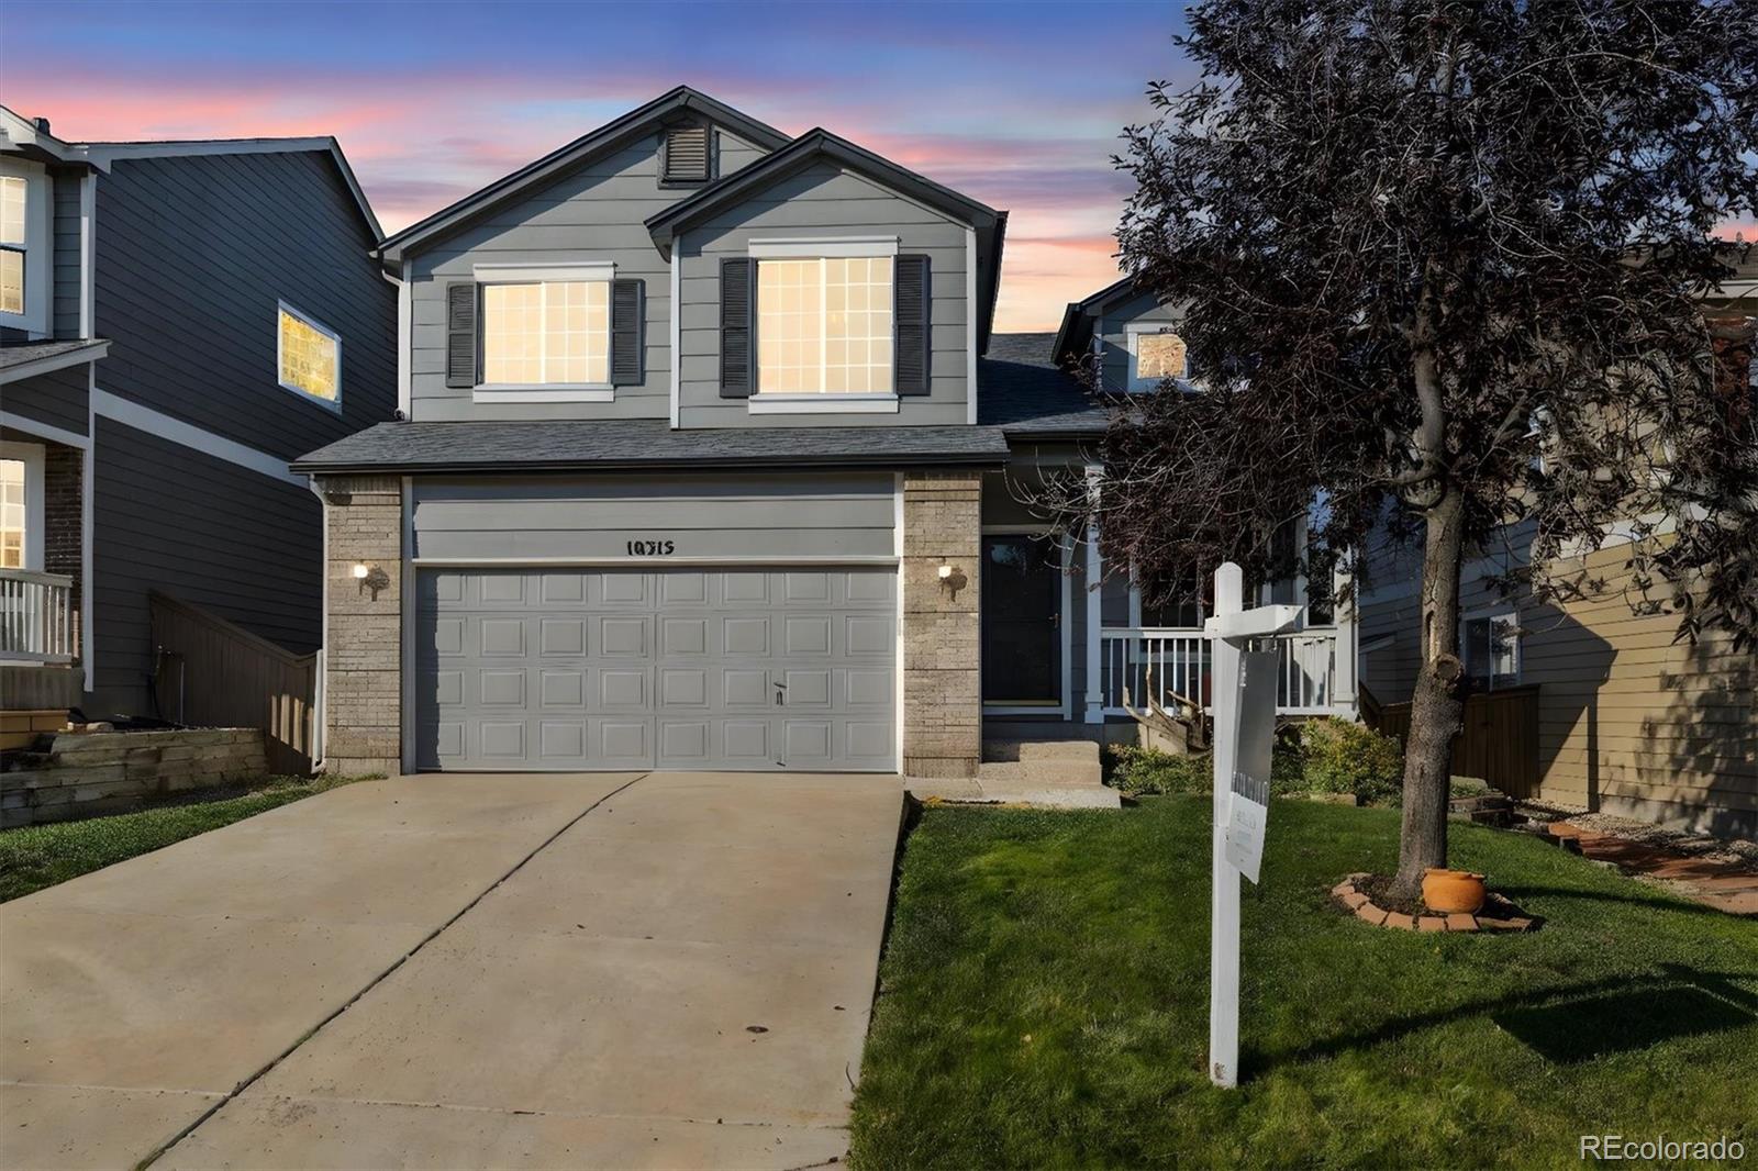
{"type": "Polygon", "coordinates": [[[983,538],[983,702],[1062,705],[1062,568],[1053,538],[983,538]]]}

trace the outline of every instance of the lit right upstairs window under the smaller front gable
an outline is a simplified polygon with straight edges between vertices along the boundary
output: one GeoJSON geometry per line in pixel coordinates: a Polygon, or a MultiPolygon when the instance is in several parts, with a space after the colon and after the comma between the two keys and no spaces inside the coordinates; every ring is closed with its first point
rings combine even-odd
{"type": "Polygon", "coordinates": [[[891,257],[758,262],[758,392],[891,392],[891,257]]]}

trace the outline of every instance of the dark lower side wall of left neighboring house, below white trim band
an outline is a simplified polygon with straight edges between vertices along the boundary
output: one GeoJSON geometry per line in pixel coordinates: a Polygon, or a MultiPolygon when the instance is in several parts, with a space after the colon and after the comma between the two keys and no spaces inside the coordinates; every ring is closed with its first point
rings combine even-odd
{"type": "Polygon", "coordinates": [[[297,485],[109,418],[97,434],[95,693],[88,712],[151,714],[148,589],[288,651],[322,631],[322,517],[297,485]]]}

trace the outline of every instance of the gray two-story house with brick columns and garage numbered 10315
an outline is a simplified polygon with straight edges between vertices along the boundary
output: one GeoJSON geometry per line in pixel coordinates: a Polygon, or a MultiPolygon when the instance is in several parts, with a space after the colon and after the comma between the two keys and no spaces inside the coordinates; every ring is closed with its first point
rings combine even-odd
{"type": "MultiPolygon", "coordinates": [[[[1006,222],[679,88],[383,241],[406,422],[294,462],[325,767],[969,775],[1150,656],[1201,689],[1201,615],[1018,503],[1108,415],[990,336],[1006,222]]],[[[1285,707],[1350,710],[1336,629],[1289,645],[1285,707]]]]}

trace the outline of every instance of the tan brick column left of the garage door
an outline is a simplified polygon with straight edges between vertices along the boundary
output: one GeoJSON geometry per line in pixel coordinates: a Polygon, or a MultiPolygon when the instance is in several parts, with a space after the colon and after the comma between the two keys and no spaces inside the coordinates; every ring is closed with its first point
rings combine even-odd
{"type": "Polygon", "coordinates": [[[323,770],[397,775],[403,754],[403,484],[397,476],[323,476],[325,563],[323,770]],[[373,591],[353,566],[390,578],[373,591]]]}

